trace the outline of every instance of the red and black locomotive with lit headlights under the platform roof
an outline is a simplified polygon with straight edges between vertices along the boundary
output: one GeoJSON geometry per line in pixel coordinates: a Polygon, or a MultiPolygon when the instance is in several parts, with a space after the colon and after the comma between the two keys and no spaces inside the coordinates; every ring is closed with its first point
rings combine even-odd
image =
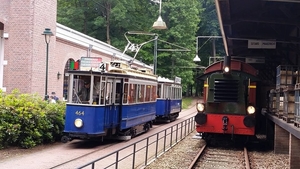
{"type": "Polygon", "coordinates": [[[255,135],[256,76],[255,68],[230,56],[205,69],[203,102],[197,103],[195,116],[202,138],[255,135]]]}

